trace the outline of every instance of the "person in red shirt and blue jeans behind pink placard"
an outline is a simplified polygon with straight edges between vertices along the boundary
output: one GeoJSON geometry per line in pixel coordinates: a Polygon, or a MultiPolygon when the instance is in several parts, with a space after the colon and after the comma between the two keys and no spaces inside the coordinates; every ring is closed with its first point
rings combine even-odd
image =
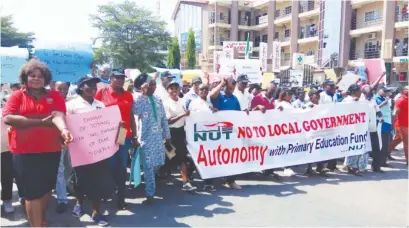
{"type": "Polygon", "coordinates": [[[95,99],[102,101],[106,107],[118,105],[121,111],[122,121],[127,130],[125,145],[120,146],[118,152],[111,157],[111,165],[114,172],[115,182],[118,186],[118,208],[126,209],[125,204],[125,183],[126,167],[129,159],[129,149],[131,145],[136,145],[136,124],[132,112],[133,97],[132,94],[124,90],[125,74],[115,71],[111,74],[111,84],[100,89],[95,94],[95,99]]]}

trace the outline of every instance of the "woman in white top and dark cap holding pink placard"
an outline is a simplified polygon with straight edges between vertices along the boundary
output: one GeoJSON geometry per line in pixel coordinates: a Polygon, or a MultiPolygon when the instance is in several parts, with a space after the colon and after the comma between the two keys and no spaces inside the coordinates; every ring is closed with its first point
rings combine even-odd
{"type": "MultiPolygon", "coordinates": [[[[97,92],[97,83],[99,78],[82,77],[77,82],[78,96],[67,103],[67,115],[90,112],[105,108],[104,103],[95,100],[97,92]]],[[[74,153],[87,153],[87,151],[74,151],[74,153]]],[[[107,226],[105,216],[100,213],[101,199],[108,198],[112,195],[115,188],[115,181],[110,170],[109,158],[97,163],[77,166],[74,168],[77,178],[74,184],[75,197],[77,204],[72,214],[75,217],[81,217],[84,214],[85,195],[92,201],[91,218],[99,226],[107,226]]]]}

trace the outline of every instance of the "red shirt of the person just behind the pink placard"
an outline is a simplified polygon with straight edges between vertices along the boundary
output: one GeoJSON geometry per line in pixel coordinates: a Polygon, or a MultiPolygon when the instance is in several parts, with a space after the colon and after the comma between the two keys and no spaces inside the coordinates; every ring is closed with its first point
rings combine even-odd
{"type": "Polygon", "coordinates": [[[126,136],[131,136],[131,112],[133,105],[132,94],[128,91],[123,93],[115,92],[111,86],[100,89],[95,94],[95,99],[102,101],[106,107],[112,105],[118,105],[119,110],[121,111],[122,121],[125,122],[125,128],[128,131],[126,136]]]}

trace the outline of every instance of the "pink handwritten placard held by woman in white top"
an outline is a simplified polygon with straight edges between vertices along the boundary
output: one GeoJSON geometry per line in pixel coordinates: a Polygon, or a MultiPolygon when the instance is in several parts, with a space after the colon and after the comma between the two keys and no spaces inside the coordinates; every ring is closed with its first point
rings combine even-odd
{"type": "Polygon", "coordinates": [[[67,115],[66,120],[67,128],[74,137],[68,146],[72,167],[102,161],[119,149],[116,144],[121,121],[118,106],[67,115]]]}

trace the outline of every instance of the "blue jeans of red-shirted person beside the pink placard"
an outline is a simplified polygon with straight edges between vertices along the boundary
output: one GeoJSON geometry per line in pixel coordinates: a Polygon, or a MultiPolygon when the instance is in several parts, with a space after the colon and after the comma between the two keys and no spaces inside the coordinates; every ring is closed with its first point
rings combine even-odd
{"type": "Polygon", "coordinates": [[[125,201],[126,167],[130,148],[131,138],[126,138],[125,145],[119,146],[119,150],[110,158],[115,183],[118,187],[118,202],[125,201]]]}

